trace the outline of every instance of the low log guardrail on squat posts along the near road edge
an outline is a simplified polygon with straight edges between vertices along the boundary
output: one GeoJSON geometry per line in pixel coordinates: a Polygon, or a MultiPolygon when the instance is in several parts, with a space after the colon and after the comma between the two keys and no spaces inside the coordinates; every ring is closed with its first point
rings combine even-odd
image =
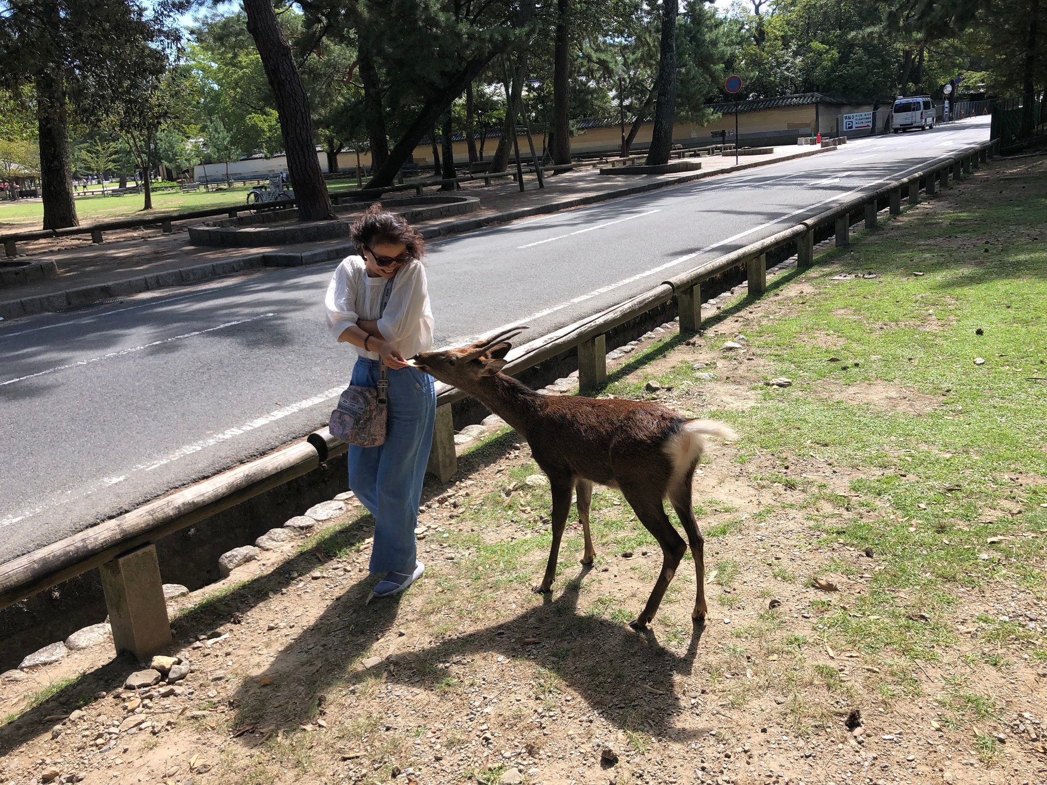
{"type": "MultiPolygon", "coordinates": [[[[998,141],[994,140],[967,148],[955,156],[937,158],[919,172],[861,194],[768,238],[687,270],[625,302],[515,347],[509,354],[506,373],[518,374],[577,349],[581,388],[598,387],[606,379],[606,335],[615,328],[675,297],[681,331],[695,332],[701,324],[700,288],[704,282],[743,266],[748,272],[749,293],[758,296],[766,289],[768,253],[789,250],[795,246],[799,266],[807,267],[814,262],[816,231],[832,224],[837,245],[847,245],[851,219],[857,210],[864,210],[866,226],[874,226],[884,200],[890,214],[897,215],[901,210],[903,192],[906,192],[910,204],[916,204],[920,188],[930,195],[937,190],[939,184],[950,187],[952,181],[970,174],[973,167],[994,157],[997,152],[998,141]]],[[[859,214],[856,218],[861,220],[862,216],[859,214]]],[[[450,407],[465,397],[462,390],[438,384],[437,422],[429,468],[443,481],[456,471],[450,407]]],[[[144,658],[171,641],[154,543],[161,537],[307,474],[346,449],[343,443],[324,428],[306,440],[0,565],[0,608],[99,567],[116,648],[144,658]],[[129,598],[135,598],[134,602],[130,602],[129,598]]]]}

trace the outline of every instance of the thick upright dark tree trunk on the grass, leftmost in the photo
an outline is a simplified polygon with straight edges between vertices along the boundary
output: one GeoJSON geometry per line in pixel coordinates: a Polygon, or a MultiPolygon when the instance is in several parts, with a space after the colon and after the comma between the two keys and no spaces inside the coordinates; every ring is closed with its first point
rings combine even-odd
{"type": "Polygon", "coordinates": [[[40,190],[44,228],[80,226],[73,202],[65,89],[49,72],[37,76],[37,125],[40,133],[40,190]]]}

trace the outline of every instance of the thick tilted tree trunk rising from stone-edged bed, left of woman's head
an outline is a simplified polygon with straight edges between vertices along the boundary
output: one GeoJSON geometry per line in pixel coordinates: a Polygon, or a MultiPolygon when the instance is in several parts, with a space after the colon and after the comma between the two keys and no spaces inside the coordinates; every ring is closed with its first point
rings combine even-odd
{"type": "Polygon", "coordinates": [[[262,67],[272,90],[280,116],[280,131],[287,155],[287,174],[302,221],[334,218],[331,196],[320,163],[309,112],[309,96],[294,64],[291,47],[276,22],[270,0],[243,0],[247,31],[254,39],[262,67]]]}

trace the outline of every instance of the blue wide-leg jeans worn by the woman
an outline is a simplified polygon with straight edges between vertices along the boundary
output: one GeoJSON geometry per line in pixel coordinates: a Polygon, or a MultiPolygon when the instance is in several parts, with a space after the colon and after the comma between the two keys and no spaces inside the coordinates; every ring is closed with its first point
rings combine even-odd
{"type": "MultiPolygon", "coordinates": [[[[422,481],[432,447],[437,394],[432,377],[411,367],[387,368],[388,419],[378,447],[349,447],[349,487],[375,516],[371,571],[411,573],[422,481]]],[[[378,386],[378,361],[358,357],[353,384],[378,386]]]]}

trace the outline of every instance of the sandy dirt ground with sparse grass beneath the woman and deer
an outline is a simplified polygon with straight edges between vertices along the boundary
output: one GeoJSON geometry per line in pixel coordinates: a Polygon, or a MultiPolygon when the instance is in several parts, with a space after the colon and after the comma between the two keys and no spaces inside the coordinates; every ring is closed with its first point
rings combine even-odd
{"type": "MultiPolygon", "coordinates": [[[[892,223],[959,198],[946,192],[892,223]]],[[[701,339],[616,360],[611,377],[682,412],[743,423],[785,390],[765,383],[773,352],[720,344],[787,318],[815,293],[800,276],[725,310],[701,339]],[[640,386],[678,368],[713,378],[640,386]]],[[[636,354],[663,337],[671,330],[636,354]]],[[[823,353],[843,345],[829,333],[807,340],[823,353]]],[[[811,389],[889,418],[942,405],[885,380],[811,389]]],[[[322,532],[173,601],[184,679],[127,689],[144,665],[113,658],[111,644],[0,676],[0,715],[12,715],[0,726],[0,784],[1047,782],[1042,550],[1031,583],[919,592],[882,580],[903,562],[875,540],[862,548],[843,536],[892,515],[915,531],[919,520],[854,489],[904,483],[897,466],[933,449],[912,444],[896,464],[853,466],[711,445],[694,486],[709,619],[692,626],[688,560],[638,633],[626,623],[661,553],[617,492],[594,498],[596,563],[578,563],[573,514],[552,596],[531,591],[548,555],[549,497],[526,443],[504,431],[463,455],[461,479],[427,486],[427,570],[398,599],[365,604],[373,521],[348,499],[322,532]],[[1000,634],[1012,628],[1022,635],[1000,634]],[[867,648],[863,629],[893,637],[867,648]]],[[[1022,494],[1047,485],[1024,474],[998,481],[1019,500],[1010,510],[1000,500],[990,518],[1017,515],[1022,494]]],[[[1044,531],[1006,537],[1040,542],[1044,531]]]]}

